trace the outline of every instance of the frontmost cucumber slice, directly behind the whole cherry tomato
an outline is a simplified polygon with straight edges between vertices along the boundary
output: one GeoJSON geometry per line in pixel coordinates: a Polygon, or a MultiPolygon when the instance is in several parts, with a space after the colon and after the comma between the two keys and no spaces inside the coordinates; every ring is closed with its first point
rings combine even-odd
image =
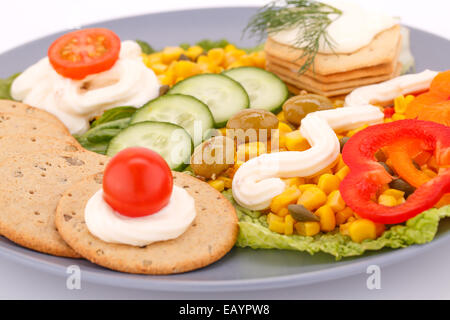
{"type": "Polygon", "coordinates": [[[158,152],[174,171],[183,170],[194,149],[191,136],[182,127],[168,122],[145,121],[122,130],[109,143],[110,157],[129,147],[144,147],[158,152]]]}

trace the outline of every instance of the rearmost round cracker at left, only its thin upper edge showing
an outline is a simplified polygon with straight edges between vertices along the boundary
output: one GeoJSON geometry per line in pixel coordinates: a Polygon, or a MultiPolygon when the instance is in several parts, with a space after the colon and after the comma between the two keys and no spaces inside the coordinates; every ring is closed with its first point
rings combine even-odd
{"type": "Polygon", "coordinates": [[[51,122],[55,126],[64,129],[67,132],[67,134],[70,134],[67,127],[61,120],[59,120],[58,117],[54,116],[50,112],[29,106],[21,102],[12,100],[0,100],[0,112],[11,113],[17,116],[33,117],[35,119],[51,122]]]}

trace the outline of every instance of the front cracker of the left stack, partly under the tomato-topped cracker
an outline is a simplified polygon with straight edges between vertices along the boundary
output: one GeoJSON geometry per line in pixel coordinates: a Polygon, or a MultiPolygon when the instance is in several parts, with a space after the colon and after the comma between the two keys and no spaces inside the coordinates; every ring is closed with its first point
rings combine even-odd
{"type": "Polygon", "coordinates": [[[55,210],[64,191],[103,170],[108,158],[93,152],[16,155],[0,164],[0,233],[24,247],[79,257],[59,236],[55,210]]]}

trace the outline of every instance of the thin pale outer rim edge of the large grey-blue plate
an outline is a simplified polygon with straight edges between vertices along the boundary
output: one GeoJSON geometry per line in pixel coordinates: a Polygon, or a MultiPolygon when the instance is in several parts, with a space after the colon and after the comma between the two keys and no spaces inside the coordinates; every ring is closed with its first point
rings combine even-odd
{"type": "MultiPolygon", "coordinates": [[[[113,19],[105,19],[101,21],[96,21],[88,24],[80,25],[80,28],[91,27],[94,25],[102,24],[102,23],[113,23],[122,20],[128,19],[136,19],[140,17],[153,16],[153,15],[161,15],[161,14],[177,14],[180,12],[188,14],[192,11],[219,11],[223,9],[228,10],[236,10],[236,9],[257,9],[259,6],[221,6],[221,7],[201,7],[201,8],[190,8],[185,10],[165,10],[158,12],[150,12],[150,13],[142,13],[142,14],[134,14],[129,16],[124,16],[120,18],[113,19]]],[[[437,35],[428,31],[421,30],[419,28],[410,27],[405,25],[410,29],[414,29],[415,31],[420,31],[425,33],[427,36],[432,36],[435,38],[439,38],[441,41],[449,42],[448,39],[444,38],[441,35],[437,35]]],[[[57,32],[52,32],[50,34],[44,35],[42,37],[33,39],[31,41],[19,44],[12,48],[9,48],[3,52],[0,52],[0,55],[9,55],[13,51],[19,49],[24,45],[33,44],[36,42],[43,41],[46,38],[53,37],[55,35],[61,34],[63,32],[67,32],[69,30],[74,30],[72,28],[66,28],[59,30],[57,32]]],[[[5,238],[6,239],[6,238],[5,238]]],[[[83,270],[81,267],[81,275],[82,281],[87,281],[89,283],[96,283],[100,285],[109,285],[121,288],[128,289],[143,289],[143,290],[152,290],[152,291],[166,291],[166,292],[231,292],[231,291],[252,291],[252,290],[267,290],[267,289],[279,289],[279,288],[287,288],[287,287],[295,287],[295,286],[304,286],[319,282],[325,282],[340,278],[345,278],[351,275],[357,275],[365,272],[367,266],[369,265],[378,265],[380,267],[392,265],[402,260],[410,259],[414,256],[420,255],[428,250],[432,250],[433,248],[439,247],[443,245],[446,241],[450,239],[450,232],[447,234],[443,234],[439,236],[437,239],[432,240],[430,243],[422,244],[422,245],[412,245],[407,248],[399,248],[392,249],[389,252],[382,252],[379,255],[373,255],[369,257],[364,257],[364,259],[354,260],[350,264],[336,266],[329,269],[310,271],[301,274],[290,274],[284,276],[269,276],[265,278],[254,278],[254,279],[242,279],[242,280],[167,280],[167,279],[158,279],[153,278],[151,275],[136,275],[136,274],[128,274],[121,273],[105,268],[101,268],[98,270],[83,270]],[[117,276],[119,275],[119,277],[117,276]],[[127,278],[120,277],[121,275],[126,275],[127,278]]],[[[56,262],[52,262],[50,260],[45,260],[46,257],[51,257],[44,253],[36,252],[27,248],[20,247],[13,242],[9,243],[0,243],[0,256],[10,259],[12,261],[18,262],[20,264],[29,266],[31,268],[54,274],[60,277],[67,276],[66,267],[56,262]]],[[[264,250],[264,249],[260,249],[264,250]]],[[[306,254],[306,253],[304,253],[306,254]]],[[[73,259],[59,258],[70,261],[67,264],[73,265],[73,259]]],[[[90,263],[90,262],[88,262],[90,263]]],[[[200,269],[201,271],[201,269],[200,269]]]]}

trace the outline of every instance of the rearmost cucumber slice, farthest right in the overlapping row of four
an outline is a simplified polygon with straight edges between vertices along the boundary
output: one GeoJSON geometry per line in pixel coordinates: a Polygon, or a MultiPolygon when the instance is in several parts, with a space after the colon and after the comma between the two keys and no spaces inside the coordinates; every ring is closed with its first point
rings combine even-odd
{"type": "Polygon", "coordinates": [[[277,75],[264,69],[239,67],[227,70],[223,74],[244,87],[252,109],[278,113],[289,96],[286,84],[277,75]]]}

